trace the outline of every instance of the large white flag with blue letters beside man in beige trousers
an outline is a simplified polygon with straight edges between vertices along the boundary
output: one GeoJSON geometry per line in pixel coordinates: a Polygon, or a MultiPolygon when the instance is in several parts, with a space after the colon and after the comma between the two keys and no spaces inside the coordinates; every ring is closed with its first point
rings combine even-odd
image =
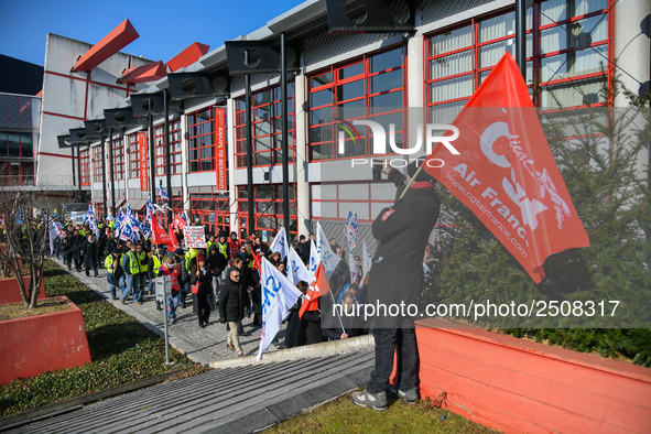
{"type": "Polygon", "coordinates": [[[262,336],[260,336],[260,348],[256,361],[260,360],[262,352],[278,334],[283,318],[301,296],[301,291],[267,258],[262,258],[260,284],[262,286],[262,336]]]}

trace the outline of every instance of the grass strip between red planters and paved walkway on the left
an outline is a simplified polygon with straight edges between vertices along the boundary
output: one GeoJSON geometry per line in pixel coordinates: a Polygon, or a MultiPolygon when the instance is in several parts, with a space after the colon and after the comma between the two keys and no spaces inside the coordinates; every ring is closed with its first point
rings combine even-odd
{"type": "Polygon", "coordinates": [[[0,387],[0,416],[185,368],[186,376],[202,371],[192,360],[170,348],[173,366],[165,366],[165,343],[132,316],[113,307],[99,294],[53,262],[45,265],[48,296],[66,295],[84,315],[91,362],[78,368],[44,372],[0,387]]]}

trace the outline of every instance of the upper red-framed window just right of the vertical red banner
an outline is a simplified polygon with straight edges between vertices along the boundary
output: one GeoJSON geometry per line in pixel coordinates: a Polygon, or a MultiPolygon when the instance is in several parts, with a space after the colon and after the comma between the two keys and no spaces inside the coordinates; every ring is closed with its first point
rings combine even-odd
{"type": "MultiPolygon", "coordinates": [[[[289,161],[295,161],[296,123],[294,83],[287,83],[287,147],[289,161]]],[[[247,166],[247,135],[245,122],[245,100],[236,100],[236,162],[238,167],[247,166]]],[[[257,91],[252,95],[253,165],[268,166],[282,164],[282,105],[280,86],[257,91]]]]}

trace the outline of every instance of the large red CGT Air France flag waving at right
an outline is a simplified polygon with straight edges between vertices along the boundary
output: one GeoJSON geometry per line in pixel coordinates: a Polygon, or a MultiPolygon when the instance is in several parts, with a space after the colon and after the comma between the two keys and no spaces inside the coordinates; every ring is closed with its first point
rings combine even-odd
{"type": "Polygon", "coordinates": [[[453,123],[459,154],[434,147],[423,169],[479,217],[535,283],[545,276],[549,256],[589,246],[510,53],[453,123]]]}

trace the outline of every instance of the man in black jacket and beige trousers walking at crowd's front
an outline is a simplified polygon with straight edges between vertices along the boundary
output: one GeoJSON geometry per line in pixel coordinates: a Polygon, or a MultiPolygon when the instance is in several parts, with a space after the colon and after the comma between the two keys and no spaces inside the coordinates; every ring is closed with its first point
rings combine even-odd
{"type": "Polygon", "coordinates": [[[221,323],[228,322],[230,329],[226,346],[242,357],[238,325],[245,317],[245,308],[250,311],[250,302],[247,289],[240,283],[240,270],[235,267],[230,269],[228,279],[219,292],[219,316],[221,323]]]}

